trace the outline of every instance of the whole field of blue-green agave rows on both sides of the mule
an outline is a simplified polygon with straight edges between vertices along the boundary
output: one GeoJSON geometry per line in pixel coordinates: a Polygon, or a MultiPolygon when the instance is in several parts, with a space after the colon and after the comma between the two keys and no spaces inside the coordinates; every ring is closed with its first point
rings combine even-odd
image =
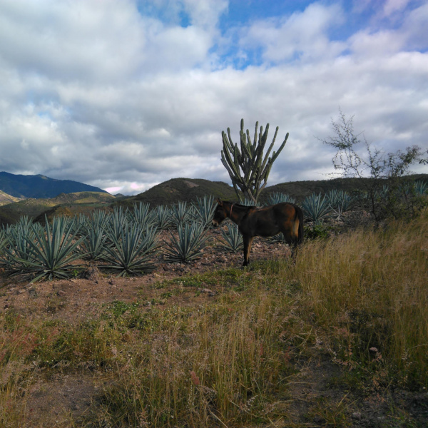
{"type": "MultiPolygon", "coordinates": [[[[412,190],[424,195],[427,189],[427,183],[417,182],[412,190]]],[[[284,193],[273,193],[267,204],[280,202],[295,200],[284,193]]],[[[326,220],[340,220],[357,202],[344,191],[331,190],[325,195],[314,193],[300,205],[307,222],[316,228],[326,220]]],[[[153,256],[159,253],[168,263],[187,263],[198,258],[208,245],[207,230],[215,205],[212,196],[205,196],[191,204],[180,202],[150,209],[148,204],[140,203],[131,210],[97,210],[90,217],[56,217],[45,225],[23,217],[0,231],[0,266],[9,275],[28,274],[31,281],[37,281],[77,275],[83,267],[77,260],[96,263],[101,270],[119,276],[155,269],[153,256]],[[169,231],[168,239],[161,240],[160,233],[165,230],[169,231]]],[[[312,230],[309,232],[313,235],[312,230]]],[[[211,245],[238,252],[242,238],[236,225],[228,223],[221,233],[222,238],[211,245]]],[[[280,241],[282,237],[272,239],[280,241]]]]}

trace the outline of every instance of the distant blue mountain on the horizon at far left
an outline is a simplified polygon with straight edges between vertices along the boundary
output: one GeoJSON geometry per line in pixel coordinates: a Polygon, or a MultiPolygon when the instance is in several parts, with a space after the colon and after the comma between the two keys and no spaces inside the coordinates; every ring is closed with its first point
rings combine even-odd
{"type": "Polygon", "coordinates": [[[106,190],[72,180],[56,180],[45,175],[0,173],[0,190],[15,198],[55,198],[61,193],[101,192],[106,190]]]}

